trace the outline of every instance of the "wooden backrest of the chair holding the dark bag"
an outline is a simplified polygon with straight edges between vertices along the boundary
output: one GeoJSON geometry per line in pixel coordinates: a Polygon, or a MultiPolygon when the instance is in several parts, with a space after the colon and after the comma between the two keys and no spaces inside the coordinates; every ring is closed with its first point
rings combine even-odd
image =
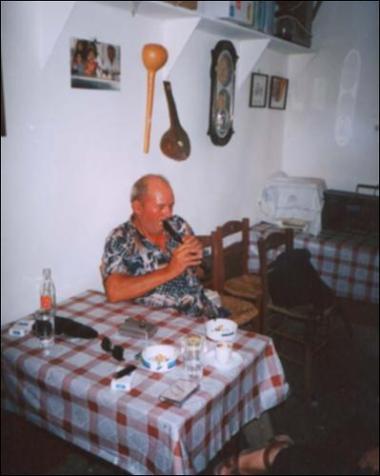
{"type": "Polygon", "coordinates": [[[260,238],[257,247],[259,250],[260,261],[260,278],[263,291],[262,312],[265,316],[267,305],[269,302],[268,291],[268,265],[277,257],[282,251],[290,251],[293,249],[294,233],[291,228],[276,231],[269,234],[266,238],[260,238]],[[271,258],[268,256],[272,253],[271,258]]]}

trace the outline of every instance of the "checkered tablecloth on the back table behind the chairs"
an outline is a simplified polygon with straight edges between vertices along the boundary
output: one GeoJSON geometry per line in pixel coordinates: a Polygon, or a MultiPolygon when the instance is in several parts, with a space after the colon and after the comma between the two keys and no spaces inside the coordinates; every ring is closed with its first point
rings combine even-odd
{"type": "MultiPolygon", "coordinates": [[[[276,225],[261,222],[251,227],[249,270],[257,273],[260,237],[278,230],[276,225]]],[[[311,261],[325,283],[337,296],[358,301],[379,302],[379,243],[368,236],[348,233],[327,234],[319,237],[296,233],[295,248],[307,248],[311,261]]]]}

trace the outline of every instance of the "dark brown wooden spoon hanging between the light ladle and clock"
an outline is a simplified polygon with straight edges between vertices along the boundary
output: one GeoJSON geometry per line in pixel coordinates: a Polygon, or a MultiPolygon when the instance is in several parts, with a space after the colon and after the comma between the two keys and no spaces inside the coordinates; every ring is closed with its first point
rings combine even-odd
{"type": "Polygon", "coordinates": [[[187,133],[183,130],[177,114],[171,84],[164,81],[166,99],[168,101],[170,128],[161,138],[161,151],[174,160],[185,160],[190,155],[190,140],[187,133]]]}

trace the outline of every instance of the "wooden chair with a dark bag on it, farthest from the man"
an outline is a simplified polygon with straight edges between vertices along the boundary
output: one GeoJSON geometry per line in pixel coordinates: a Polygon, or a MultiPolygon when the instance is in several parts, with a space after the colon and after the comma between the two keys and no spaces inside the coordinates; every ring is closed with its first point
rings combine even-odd
{"type": "MultiPolygon", "coordinates": [[[[323,310],[316,310],[312,304],[291,308],[273,304],[268,290],[268,265],[279,252],[289,251],[292,248],[291,229],[271,233],[258,241],[264,332],[275,339],[280,357],[303,365],[304,395],[305,399],[310,401],[313,389],[313,364],[328,343],[330,319],[337,307],[335,302],[323,310]],[[284,344],[288,348],[285,348],[284,344]],[[301,350],[301,354],[295,354],[296,350],[301,350]]],[[[344,319],[343,314],[340,316],[344,319]]]]}

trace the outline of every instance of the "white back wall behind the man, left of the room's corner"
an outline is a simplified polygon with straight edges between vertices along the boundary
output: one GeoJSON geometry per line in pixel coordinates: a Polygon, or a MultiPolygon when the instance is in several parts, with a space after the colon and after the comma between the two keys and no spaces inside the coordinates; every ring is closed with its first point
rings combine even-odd
{"type": "MultiPolygon", "coordinates": [[[[142,174],[171,180],[176,212],[198,233],[232,217],[254,219],[263,179],[281,165],[285,114],[248,108],[247,80],[236,94],[236,133],[227,146],[212,145],[206,135],[210,51],[221,38],[195,32],[169,78],[192,144],[190,158],[178,163],[159,149],[169,123],[160,73],[151,151],[142,152],[146,71],[140,55],[145,43],[163,41],[157,21],[96,2],[2,1],[1,14],[7,126],[1,138],[2,323],[37,307],[43,267],[53,270],[58,300],[101,289],[105,237],[129,217],[129,190],[142,174]],[[71,89],[72,37],[121,46],[120,92],[71,89]]],[[[258,65],[277,75],[286,75],[286,66],[286,56],[271,52],[258,65]]]]}

